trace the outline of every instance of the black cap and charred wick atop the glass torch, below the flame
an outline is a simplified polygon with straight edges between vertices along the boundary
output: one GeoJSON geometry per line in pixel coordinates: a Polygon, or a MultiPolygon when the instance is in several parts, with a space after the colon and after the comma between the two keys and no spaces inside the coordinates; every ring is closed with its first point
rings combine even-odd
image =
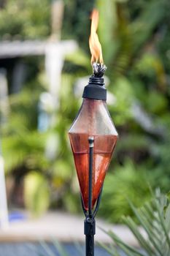
{"type": "Polygon", "coordinates": [[[107,89],[104,87],[104,64],[93,63],[93,75],[89,78],[88,86],[82,94],[82,98],[107,100],[107,89]]]}

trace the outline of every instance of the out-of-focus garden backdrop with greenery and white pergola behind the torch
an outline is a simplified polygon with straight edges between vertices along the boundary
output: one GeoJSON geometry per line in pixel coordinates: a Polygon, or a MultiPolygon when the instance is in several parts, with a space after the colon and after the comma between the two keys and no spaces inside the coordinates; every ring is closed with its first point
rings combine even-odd
{"type": "Polygon", "coordinates": [[[9,212],[82,213],[67,132],[92,72],[93,7],[120,136],[98,214],[121,222],[132,214],[127,197],[141,206],[150,187],[169,191],[170,1],[1,0],[0,148],[9,212]]]}

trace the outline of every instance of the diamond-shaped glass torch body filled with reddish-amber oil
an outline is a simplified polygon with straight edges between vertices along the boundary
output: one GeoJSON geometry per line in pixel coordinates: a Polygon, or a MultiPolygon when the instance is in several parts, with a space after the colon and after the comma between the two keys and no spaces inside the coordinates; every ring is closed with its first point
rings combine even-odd
{"type": "Polygon", "coordinates": [[[93,136],[93,194],[94,207],[104,178],[112,159],[117,142],[117,131],[109,115],[106,101],[83,99],[80,111],[69,129],[69,139],[74,154],[74,162],[80,184],[82,202],[88,211],[89,145],[88,138],[93,136]]]}

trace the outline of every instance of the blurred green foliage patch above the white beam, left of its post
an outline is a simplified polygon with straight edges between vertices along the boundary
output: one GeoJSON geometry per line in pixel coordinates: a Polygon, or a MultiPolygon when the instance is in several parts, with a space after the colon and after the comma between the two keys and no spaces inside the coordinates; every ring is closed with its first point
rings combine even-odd
{"type": "Polygon", "coordinates": [[[0,39],[39,39],[50,35],[50,0],[8,0],[0,11],[0,39]]]}

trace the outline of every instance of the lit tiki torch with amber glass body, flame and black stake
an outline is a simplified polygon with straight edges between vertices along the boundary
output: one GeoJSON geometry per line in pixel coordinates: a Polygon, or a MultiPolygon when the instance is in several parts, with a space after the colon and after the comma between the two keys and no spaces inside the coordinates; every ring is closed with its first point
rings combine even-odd
{"type": "Polygon", "coordinates": [[[107,109],[104,65],[96,30],[98,11],[91,16],[90,52],[93,75],[82,94],[82,106],[69,129],[69,140],[80,184],[85,214],[86,256],[94,255],[95,217],[101,200],[104,178],[117,142],[117,131],[107,109]]]}

